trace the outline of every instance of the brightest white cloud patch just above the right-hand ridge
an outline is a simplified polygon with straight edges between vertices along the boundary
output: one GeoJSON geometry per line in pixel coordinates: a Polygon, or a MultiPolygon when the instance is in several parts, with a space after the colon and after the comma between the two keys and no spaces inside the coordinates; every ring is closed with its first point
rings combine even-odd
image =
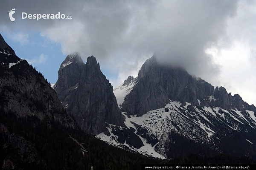
{"type": "Polygon", "coordinates": [[[248,43],[234,41],[228,48],[209,48],[215,62],[221,66],[217,79],[212,79],[215,86],[223,86],[232,95],[239,94],[249,104],[255,104],[256,96],[252,89],[256,85],[255,63],[251,62],[251,48],[248,43]]]}

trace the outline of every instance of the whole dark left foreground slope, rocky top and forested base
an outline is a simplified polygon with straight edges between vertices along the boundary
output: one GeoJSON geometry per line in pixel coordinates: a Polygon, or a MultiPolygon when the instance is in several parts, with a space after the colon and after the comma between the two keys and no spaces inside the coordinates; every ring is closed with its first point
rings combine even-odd
{"type": "Polygon", "coordinates": [[[0,34],[0,169],[140,169],[160,162],[77,127],[43,75],[0,34]]]}

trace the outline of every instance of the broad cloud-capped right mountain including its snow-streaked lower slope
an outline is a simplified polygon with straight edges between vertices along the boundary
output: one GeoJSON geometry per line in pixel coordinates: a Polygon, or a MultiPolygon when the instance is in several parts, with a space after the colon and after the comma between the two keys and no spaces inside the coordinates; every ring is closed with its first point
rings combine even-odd
{"type": "Polygon", "coordinates": [[[98,138],[144,155],[174,158],[190,153],[230,153],[256,158],[256,108],[238,94],[214,88],[184,69],[148,59],[138,77],[128,77],[114,94],[125,116],[125,128],[142,142],[134,147],[124,127],[111,125],[111,135],[98,138]],[[116,133],[119,131],[119,133],[116,133]]]}

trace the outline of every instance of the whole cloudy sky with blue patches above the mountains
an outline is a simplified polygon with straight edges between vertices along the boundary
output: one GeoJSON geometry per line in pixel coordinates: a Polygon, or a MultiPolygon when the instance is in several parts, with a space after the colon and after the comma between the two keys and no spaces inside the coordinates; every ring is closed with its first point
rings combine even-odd
{"type": "Polygon", "coordinates": [[[51,83],[75,51],[96,57],[113,87],[156,54],[254,105],[255,21],[255,0],[0,1],[0,34],[51,83]],[[58,12],[65,19],[26,17],[58,12]]]}

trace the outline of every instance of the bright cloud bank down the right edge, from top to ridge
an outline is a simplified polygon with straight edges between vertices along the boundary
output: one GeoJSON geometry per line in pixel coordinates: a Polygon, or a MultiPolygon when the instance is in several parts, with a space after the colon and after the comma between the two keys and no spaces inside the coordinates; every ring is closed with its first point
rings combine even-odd
{"type": "Polygon", "coordinates": [[[236,16],[227,20],[227,34],[206,52],[221,66],[219,75],[204,77],[215,86],[223,86],[232,95],[256,105],[256,3],[239,1],[236,16]]]}

